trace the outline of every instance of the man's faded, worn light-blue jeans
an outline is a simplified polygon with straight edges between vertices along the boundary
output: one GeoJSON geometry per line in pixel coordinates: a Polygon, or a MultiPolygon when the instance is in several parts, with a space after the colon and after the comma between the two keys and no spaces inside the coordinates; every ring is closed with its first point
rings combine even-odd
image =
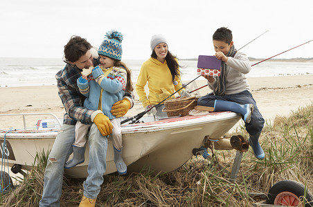
{"type": "MultiPolygon", "coordinates": [[[[44,192],[39,206],[60,206],[64,164],[73,152],[74,139],[75,125],[64,124],[48,156],[48,164],[44,172],[44,192]]],[[[107,167],[106,158],[107,137],[103,137],[96,124],[92,124],[89,132],[89,175],[84,181],[84,196],[90,199],[96,199],[100,193],[102,175],[107,167]]]]}

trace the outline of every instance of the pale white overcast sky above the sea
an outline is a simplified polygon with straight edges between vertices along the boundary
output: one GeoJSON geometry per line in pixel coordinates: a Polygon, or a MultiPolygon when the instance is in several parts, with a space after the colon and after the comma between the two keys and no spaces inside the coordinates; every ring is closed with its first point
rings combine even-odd
{"type": "MultiPolygon", "coordinates": [[[[124,35],[123,59],[150,57],[163,34],[179,58],[213,55],[217,28],[233,31],[236,48],[267,58],[313,39],[312,0],[1,0],[0,57],[62,58],[75,34],[100,46],[105,32],[124,35]]],[[[276,58],[313,57],[313,41],[276,58]]]]}

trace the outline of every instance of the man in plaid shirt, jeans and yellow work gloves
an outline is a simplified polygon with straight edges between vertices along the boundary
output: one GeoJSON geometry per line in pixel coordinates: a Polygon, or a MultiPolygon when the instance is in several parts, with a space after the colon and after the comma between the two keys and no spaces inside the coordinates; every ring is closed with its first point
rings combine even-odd
{"type": "MultiPolygon", "coordinates": [[[[83,108],[84,96],[80,94],[77,79],[83,68],[97,66],[100,62],[92,56],[91,44],[82,37],[73,36],[64,46],[66,66],[55,75],[60,99],[64,105],[63,126],[55,138],[55,143],[48,156],[48,164],[44,173],[44,191],[39,206],[60,206],[64,164],[72,153],[75,139],[75,124],[92,124],[89,130],[89,166],[88,177],[84,181],[84,195],[80,206],[95,206],[96,197],[100,193],[103,173],[106,170],[107,135],[112,132],[109,118],[100,110],[83,108]]],[[[132,95],[125,95],[122,101],[114,103],[111,113],[122,117],[134,100],[132,95]]]]}

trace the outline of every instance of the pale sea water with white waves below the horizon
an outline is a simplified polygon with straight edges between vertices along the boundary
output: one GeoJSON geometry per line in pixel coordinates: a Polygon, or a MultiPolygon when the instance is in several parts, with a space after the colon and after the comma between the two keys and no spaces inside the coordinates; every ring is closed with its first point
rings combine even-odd
{"type": "MultiPolygon", "coordinates": [[[[123,60],[132,70],[135,83],[145,60],[123,60]]],[[[251,61],[251,65],[259,61],[251,61]]],[[[197,60],[180,60],[181,80],[198,77],[197,60]]],[[[0,57],[0,87],[54,86],[55,74],[64,68],[62,59],[4,58],[0,57]]],[[[275,60],[263,61],[251,68],[247,77],[275,77],[285,75],[313,75],[313,61],[275,60]]],[[[199,77],[199,79],[203,79],[199,77]]]]}

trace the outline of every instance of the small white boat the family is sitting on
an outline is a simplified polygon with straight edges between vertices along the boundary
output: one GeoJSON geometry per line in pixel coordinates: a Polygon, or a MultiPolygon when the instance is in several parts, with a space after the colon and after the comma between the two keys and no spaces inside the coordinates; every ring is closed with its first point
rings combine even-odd
{"type": "MultiPolygon", "coordinates": [[[[38,114],[19,115],[23,115],[24,119],[26,115],[38,114]]],[[[150,117],[143,118],[150,119],[150,117]]],[[[218,139],[239,119],[240,115],[235,112],[210,112],[202,116],[189,115],[138,124],[123,124],[123,159],[127,164],[127,173],[140,172],[143,168],[150,168],[156,173],[175,170],[193,157],[194,148],[203,146],[205,136],[218,139]]],[[[55,119],[38,121],[36,126],[35,130],[27,128],[0,130],[1,146],[3,146],[4,138],[6,141],[5,154],[1,153],[1,156],[5,155],[3,157],[8,159],[10,167],[15,165],[20,166],[22,170],[29,170],[39,152],[51,150],[62,124],[55,117],[55,119]]],[[[65,175],[76,178],[87,177],[88,155],[87,147],[84,163],[66,169],[65,175]]],[[[113,172],[116,172],[116,166],[112,142],[109,139],[105,174],[113,172]]]]}

